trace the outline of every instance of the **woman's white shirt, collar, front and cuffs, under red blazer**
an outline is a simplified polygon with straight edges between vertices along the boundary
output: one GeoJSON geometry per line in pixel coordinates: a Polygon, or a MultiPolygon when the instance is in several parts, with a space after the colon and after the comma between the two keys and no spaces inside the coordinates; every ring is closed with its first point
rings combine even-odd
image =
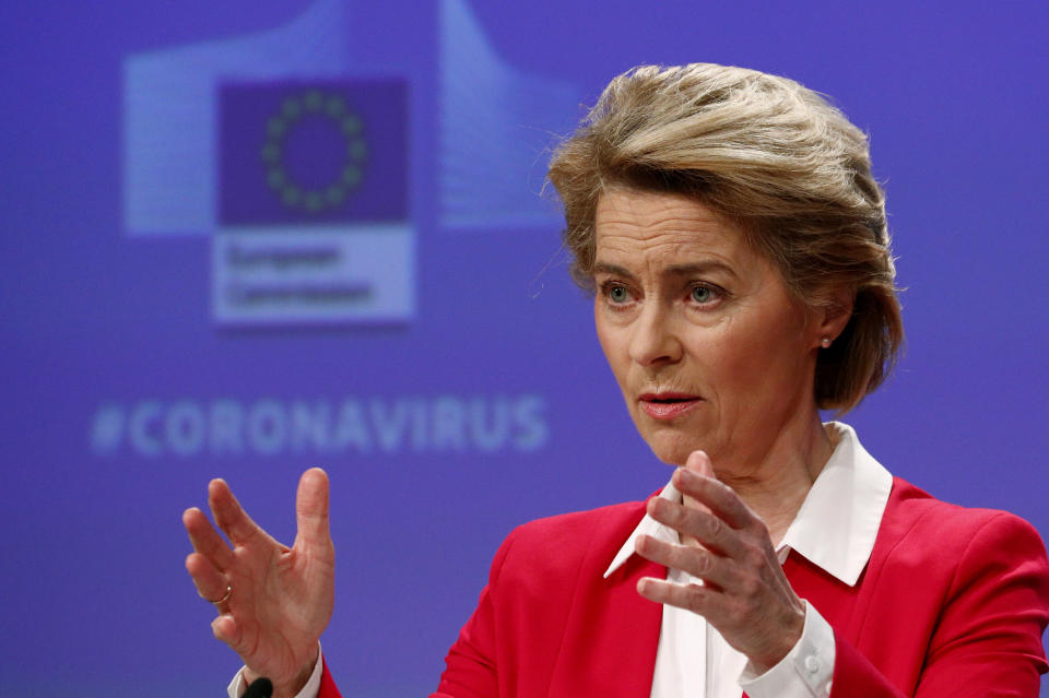
{"type": "MultiPolygon", "coordinates": [[[[794,551],[853,587],[874,549],[893,476],[863,449],[852,427],[838,422],[828,426],[837,431],[838,443],[777,553],[782,563],[794,551]]],[[[659,496],[681,500],[681,493],[671,484],[659,496]]],[[[674,543],[679,540],[676,531],[646,514],[616,553],[605,578],[635,554],[634,542],[641,534],[674,543]]],[[[680,570],[669,570],[667,578],[695,581],[680,570]]],[[[761,676],[703,616],[664,605],[651,698],[740,698],[744,690],[751,698],[826,698],[830,695],[834,660],[834,631],[808,602],[801,638],[779,664],[761,676]]],[[[295,698],[316,698],[320,676],[318,659],[295,698]]],[[[229,698],[239,698],[245,688],[237,672],[227,689],[229,698]]]]}

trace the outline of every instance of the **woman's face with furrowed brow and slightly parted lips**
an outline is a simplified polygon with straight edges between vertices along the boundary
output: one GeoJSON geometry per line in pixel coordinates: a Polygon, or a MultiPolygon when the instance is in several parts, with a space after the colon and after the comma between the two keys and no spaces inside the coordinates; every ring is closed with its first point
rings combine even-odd
{"type": "Polygon", "coordinates": [[[704,449],[745,470],[818,418],[826,328],[739,229],[695,201],[628,189],[602,196],[596,229],[598,336],[657,457],[681,465],[704,449]]]}

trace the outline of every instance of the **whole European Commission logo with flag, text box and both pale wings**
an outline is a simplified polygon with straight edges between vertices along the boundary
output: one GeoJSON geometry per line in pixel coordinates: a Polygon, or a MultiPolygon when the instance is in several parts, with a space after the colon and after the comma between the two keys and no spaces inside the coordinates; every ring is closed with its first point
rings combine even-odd
{"type": "MultiPolygon", "coordinates": [[[[535,192],[578,91],[505,61],[469,3],[438,4],[439,56],[424,42],[398,59],[439,66],[439,190],[424,214],[455,232],[558,226],[535,192]]],[[[316,0],[281,26],[123,61],[126,232],[209,238],[222,326],[414,316],[411,93],[361,72],[382,63],[353,35],[390,27],[355,24],[347,5],[316,0]]]]}

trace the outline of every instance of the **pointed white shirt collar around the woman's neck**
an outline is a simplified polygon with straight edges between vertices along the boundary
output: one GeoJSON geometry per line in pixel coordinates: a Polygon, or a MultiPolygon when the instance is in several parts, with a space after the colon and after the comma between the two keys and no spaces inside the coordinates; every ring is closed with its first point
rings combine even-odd
{"type": "MultiPolygon", "coordinates": [[[[840,438],[787,529],[779,549],[797,551],[852,587],[874,549],[893,476],[863,449],[852,427],[839,422],[829,424],[840,438]]],[[[681,501],[681,493],[670,483],[659,496],[681,501]]],[[[634,554],[634,542],[643,534],[677,542],[676,531],[646,513],[615,554],[604,572],[605,578],[634,554]]]]}

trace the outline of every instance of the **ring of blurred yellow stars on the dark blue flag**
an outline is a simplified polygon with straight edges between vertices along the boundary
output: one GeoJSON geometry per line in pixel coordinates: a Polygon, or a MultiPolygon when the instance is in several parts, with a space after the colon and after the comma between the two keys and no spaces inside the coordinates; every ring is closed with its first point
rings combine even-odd
{"type": "Polygon", "coordinates": [[[360,186],[368,156],[364,141],[364,125],[345,100],[338,94],[310,90],[291,96],[281,104],[278,114],[266,123],[266,143],[262,162],[266,163],[266,181],[284,205],[319,213],[341,204],[346,194],[360,186]],[[284,141],[295,125],[307,116],[331,119],[345,139],[345,158],[339,177],[331,184],[308,188],[295,182],[284,167],[284,141]]]}

